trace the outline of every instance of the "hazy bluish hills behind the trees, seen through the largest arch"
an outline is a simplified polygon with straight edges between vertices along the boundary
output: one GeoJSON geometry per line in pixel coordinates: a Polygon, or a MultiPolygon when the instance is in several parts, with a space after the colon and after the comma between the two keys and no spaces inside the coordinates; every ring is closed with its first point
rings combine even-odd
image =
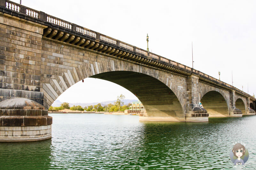
{"type": "MultiPolygon", "coordinates": [[[[114,104],[116,100],[109,100],[109,101],[101,101],[101,102],[93,102],[93,103],[69,103],[69,106],[72,107],[72,106],[77,106],[77,105],[80,105],[82,107],[87,107],[87,106],[90,106],[90,105],[97,105],[98,103],[101,104],[101,106],[106,106],[108,105],[109,103],[112,103],[114,104]]],[[[124,105],[128,105],[128,103],[132,103],[133,101],[138,101],[136,99],[124,99],[122,100],[124,102],[124,105]]],[[[64,102],[64,101],[63,101],[64,102]]],[[[52,106],[53,107],[60,107],[61,103],[60,100],[55,100],[53,103],[52,103],[52,106]]]]}

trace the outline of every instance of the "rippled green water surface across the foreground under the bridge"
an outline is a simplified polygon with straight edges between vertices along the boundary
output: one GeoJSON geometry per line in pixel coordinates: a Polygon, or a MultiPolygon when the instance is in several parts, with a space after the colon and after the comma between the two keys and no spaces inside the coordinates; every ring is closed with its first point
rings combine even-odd
{"type": "Polygon", "coordinates": [[[49,115],[52,139],[0,143],[0,169],[229,169],[237,142],[249,151],[244,169],[256,168],[256,116],[184,123],[139,122],[134,115],[49,115]]]}

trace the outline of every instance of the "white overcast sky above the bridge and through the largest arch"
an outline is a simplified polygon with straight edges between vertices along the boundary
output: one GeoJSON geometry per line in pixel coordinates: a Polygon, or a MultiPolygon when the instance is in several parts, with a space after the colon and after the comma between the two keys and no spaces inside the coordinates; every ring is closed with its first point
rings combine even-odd
{"type": "MultiPolygon", "coordinates": [[[[19,3],[19,0],[14,2],[19,3]]],[[[233,85],[256,93],[256,1],[64,1],[22,0],[22,4],[52,16],[149,50],[233,85]]],[[[128,90],[111,82],[86,78],[58,100],[97,102],[115,100],[128,90]]]]}

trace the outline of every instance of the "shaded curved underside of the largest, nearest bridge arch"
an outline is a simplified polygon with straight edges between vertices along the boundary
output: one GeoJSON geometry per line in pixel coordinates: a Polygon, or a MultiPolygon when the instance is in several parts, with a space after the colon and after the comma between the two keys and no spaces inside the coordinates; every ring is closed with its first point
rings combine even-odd
{"type": "Polygon", "coordinates": [[[91,76],[121,85],[143,104],[147,116],[184,117],[185,112],[177,96],[163,82],[143,73],[110,71],[91,76]]]}

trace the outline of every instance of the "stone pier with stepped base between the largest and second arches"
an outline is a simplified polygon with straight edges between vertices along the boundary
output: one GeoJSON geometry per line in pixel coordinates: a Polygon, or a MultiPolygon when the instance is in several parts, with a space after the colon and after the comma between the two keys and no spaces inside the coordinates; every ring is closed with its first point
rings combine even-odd
{"type": "Polygon", "coordinates": [[[186,122],[208,122],[207,110],[199,105],[198,81],[194,74],[187,78],[186,122]]]}

